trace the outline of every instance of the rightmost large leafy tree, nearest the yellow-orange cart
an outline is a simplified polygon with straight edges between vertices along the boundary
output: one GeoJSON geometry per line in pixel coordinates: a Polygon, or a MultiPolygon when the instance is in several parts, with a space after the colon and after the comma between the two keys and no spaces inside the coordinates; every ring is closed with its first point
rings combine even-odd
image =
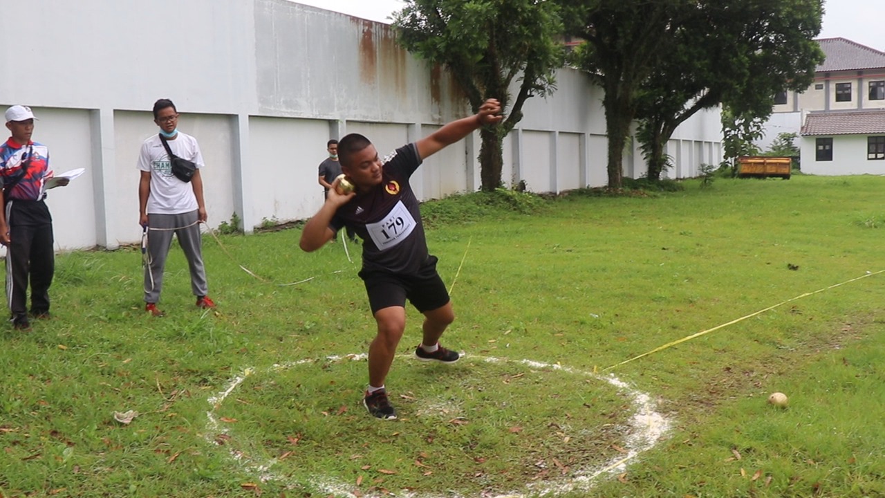
{"type": "Polygon", "coordinates": [[[736,117],[723,128],[726,157],[747,152],[735,140],[753,136],[771,115],[774,94],[812,83],[823,61],[813,40],[822,14],[821,0],[702,0],[687,11],[693,20],[673,33],[640,92],[638,137],[649,178],[659,179],[666,167],[664,147],[676,128],[716,105],[727,106],[725,118],[736,117]]]}

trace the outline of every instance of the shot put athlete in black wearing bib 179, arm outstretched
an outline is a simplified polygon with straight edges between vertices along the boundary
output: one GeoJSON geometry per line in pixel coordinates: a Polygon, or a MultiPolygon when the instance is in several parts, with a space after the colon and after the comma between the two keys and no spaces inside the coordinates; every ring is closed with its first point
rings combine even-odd
{"type": "Polygon", "coordinates": [[[306,225],[301,248],[315,251],[335,237],[342,227],[363,239],[363,268],[369,306],[378,332],[369,346],[369,385],[363,404],[381,419],[396,418],[385,379],[405,331],[405,301],[424,315],[422,339],[415,356],[422,361],[452,363],[458,353],[439,344],[446,327],[455,320],[449,292],[436,272],[436,258],[427,252],[418,199],[409,184],[412,173],[444,147],[474,130],[501,121],[501,105],[486,100],[479,113],[452,121],[434,133],[407,144],[381,160],[375,146],[357,134],[338,142],[338,160],[356,191],[339,190],[335,179],[325,204],[306,225]]]}

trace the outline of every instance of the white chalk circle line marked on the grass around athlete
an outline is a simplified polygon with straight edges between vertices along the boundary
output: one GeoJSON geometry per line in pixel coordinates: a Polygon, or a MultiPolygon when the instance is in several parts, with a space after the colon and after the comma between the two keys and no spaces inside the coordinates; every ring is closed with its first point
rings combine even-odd
{"type": "MultiPolygon", "coordinates": [[[[627,434],[627,439],[625,440],[624,447],[622,448],[623,453],[620,456],[612,458],[612,460],[596,467],[574,469],[573,472],[571,472],[571,475],[567,478],[535,481],[527,484],[527,486],[525,486],[521,490],[514,490],[510,493],[498,494],[496,496],[484,495],[485,498],[527,498],[529,496],[551,496],[566,494],[574,491],[589,490],[598,481],[598,479],[623,472],[627,468],[627,463],[635,460],[635,458],[643,454],[643,452],[646,452],[652,447],[655,447],[658,441],[664,437],[664,435],[672,425],[669,419],[655,411],[656,403],[651,400],[650,395],[632,389],[626,382],[621,381],[618,377],[615,377],[612,374],[599,375],[585,370],[563,367],[559,364],[533,362],[531,360],[508,360],[505,358],[478,356],[470,356],[469,358],[471,360],[479,360],[481,362],[489,363],[520,364],[525,365],[528,369],[555,370],[578,377],[588,377],[591,379],[596,379],[614,386],[619,391],[619,393],[627,396],[633,408],[633,416],[629,418],[629,421],[625,426],[620,427],[620,432],[627,434]]],[[[355,362],[365,361],[366,354],[349,354],[345,356],[327,357],[327,361],[329,362],[340,362],[342,360],[352,360],[355,362]]],[[[209,440],[212,444],[218,445],[218,435],[229,435],[229,433],[231,432],[230,427],[219,416],[216,415],[216,410],[221,407],[221,405],[231,393],[235,392],[237,387],[242,385],[243,381],[245,381],[246,378],[259,373],[273,375],[273,373],[280,372],[281,370],[289,370],[314,362],[316,362],[315,359],[305,359],[299,360],[297,362],[275,364],[263,371],[258,371],[254,368],[243,369],[239,375],[228,380],[227,385],[225,385],[225,387],[221,391],[219,391],[219,393],[210,396],[206,400],[212,407],[209,411],[206,412],[206,440],[209,440]]],[[[389,422],[381,421],[379,421],[379,423],[390,424],[389,422]]],[[[305,482],[304,479],[294,479],[292,477],[282,475],[280,472],[273,471],[273,467],[277,464],[276,458],[260,458],[247,456],[244,455],[242,451],[237,449],[230,449],[229,453],[234,462],[242,467],[242,471],[254,474],[257,479],[260,479],[263,482],[275,481],[283,484],[284,486],[289,486],[293,488],[312,487],[313,489],[318,490],[319,493],[327,495],[331,494],[335,496],[347,497],[355,496],[355,494],[352,493],[352,490],[354,489],[352,483],[344,482],[340,479],[334,479],[326,476],[313,476],[312,478],[307,479],[307,482],[305,482]]],[[[370,492],[363,492],[363,490],[360,490],[360,496],[362,496],[363,498],[381,498],[381,496],[383,495],[372,494],[370,492]]],[[[396,493],[396,496],[410,498],[458,498],[463,495],[451,493],[420,493],[415,491],[403,490],[402,492],[396,493]]]]}

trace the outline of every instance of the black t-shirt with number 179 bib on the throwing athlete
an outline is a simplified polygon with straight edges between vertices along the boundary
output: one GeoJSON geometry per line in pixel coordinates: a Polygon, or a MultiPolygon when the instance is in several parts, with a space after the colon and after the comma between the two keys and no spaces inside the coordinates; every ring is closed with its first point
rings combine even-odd
{"type": "Polygon", "coordinates": [[[427,238],[418,198],[409,178],[421,164],[418,147],[407,144],[384,158],[381,184],[338,208],[329,226],[349,226],[363,239],[363,268],[417,273],[427,260],[427,238]]]}

